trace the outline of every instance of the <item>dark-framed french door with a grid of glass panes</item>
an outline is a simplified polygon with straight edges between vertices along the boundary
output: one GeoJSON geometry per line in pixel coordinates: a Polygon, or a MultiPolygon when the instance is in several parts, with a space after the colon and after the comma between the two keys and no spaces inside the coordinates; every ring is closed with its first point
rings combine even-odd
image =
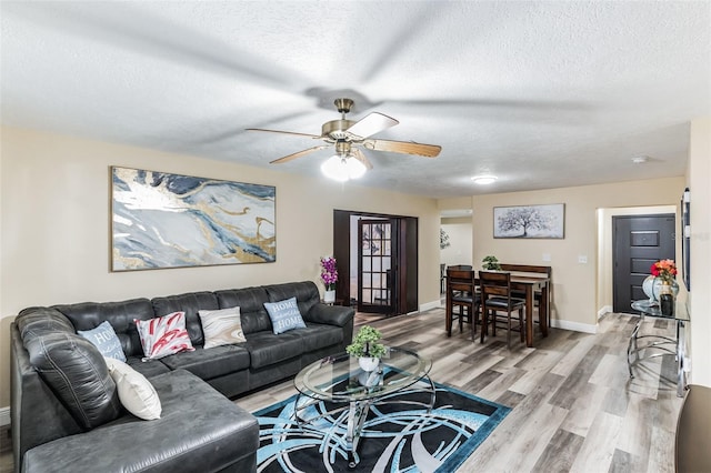
{"type": "Polygon", "coordinates": [[[391,219],[358,221],[358,311],[395,313],[397,222],[391,219]]]}

